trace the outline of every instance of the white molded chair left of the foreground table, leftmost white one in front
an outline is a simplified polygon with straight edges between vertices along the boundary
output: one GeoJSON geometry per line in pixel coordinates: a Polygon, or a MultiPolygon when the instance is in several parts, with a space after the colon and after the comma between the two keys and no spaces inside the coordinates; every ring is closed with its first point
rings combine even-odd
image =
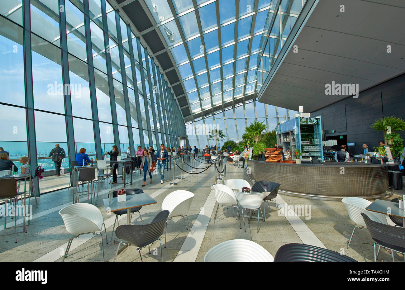
{"type": "Polygon", "coordinates": [[[66,230],[73,236],[69,239],[66,252],[63,255],[63,260],[68,256],[72,240],[79,237],[79,235],[93,233],[93,235],[100,235],[101,237],[101,250],[102,258],[104,261],[104,248],[102,243],[102,226],[104,225],[105,240],[107,241],[107,231],[104,224],[102,213],[98,207],[88,203],[74,203],[68,205],[59,211],[65,224],[66,230]],[[98,233],[96,233],[98,232],[98,233]],[[75,237],[75,235],[77,235],[75,237]]]}

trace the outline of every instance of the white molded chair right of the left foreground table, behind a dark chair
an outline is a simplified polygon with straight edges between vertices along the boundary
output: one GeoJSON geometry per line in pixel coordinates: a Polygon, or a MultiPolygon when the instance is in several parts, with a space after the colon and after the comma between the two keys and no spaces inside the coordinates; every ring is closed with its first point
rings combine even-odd
{"type": "MultiPolygon", "coordinates": [[[[188,230],[187,224],[185,223],[185,216],[187,217],[188,226],[190,227],[190,221],[188,220],[188,211],[190,211],[191,202],[193,200],[194,193],[187,190],[175,190],[168,194],[162,202],[162,211],[168,210],[170,212],[168,220],[176,216],[182,216],[185,229],[188,230]]],[[[166,247],[166,236],[167,236],[167,221],[166,221],[166,232],[164,237],[164,247],[166,247]]]]}

